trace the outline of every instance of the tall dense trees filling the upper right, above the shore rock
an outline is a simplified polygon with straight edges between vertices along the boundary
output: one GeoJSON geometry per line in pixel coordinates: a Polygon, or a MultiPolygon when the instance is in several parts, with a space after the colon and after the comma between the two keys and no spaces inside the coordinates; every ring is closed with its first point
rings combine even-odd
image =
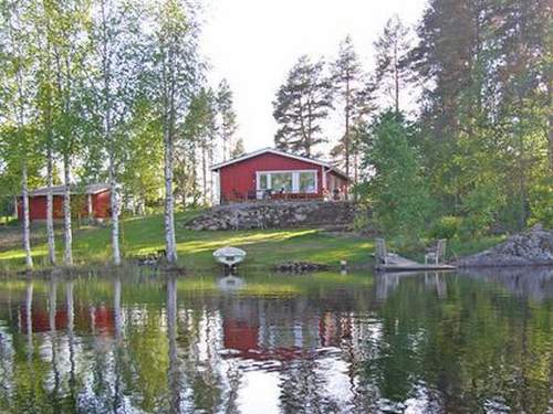
{"type": "Polygon", "coordinates": [[[534,195],[553,171],[547,2],[431,0],[417,31],[404,67],[426,85],[420,147],[440,210],[467,237],[547,220],[534,195]]]}

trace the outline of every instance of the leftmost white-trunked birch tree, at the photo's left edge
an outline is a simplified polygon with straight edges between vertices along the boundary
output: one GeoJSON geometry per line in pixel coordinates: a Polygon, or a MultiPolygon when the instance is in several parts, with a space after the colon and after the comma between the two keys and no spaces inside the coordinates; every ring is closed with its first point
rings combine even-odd
{"type": "Polygon", "coordinates": [[[21,168],[21,208],[23,209],[23,251],[25,254],[25,266],[33,267],[31,253],[31,231],[29,219],[29,189],[28,189],[28,160],[31,156],[30,120],[33,65],[30,59],[30,43],[24,35],[29,29],[24,12],[29,7],[27,2],[2,1],[0,3],[2,13],[1,57],[2,74],[2,105],[3,116],[8,125],[13,128],[11,146],[21,168]]]}

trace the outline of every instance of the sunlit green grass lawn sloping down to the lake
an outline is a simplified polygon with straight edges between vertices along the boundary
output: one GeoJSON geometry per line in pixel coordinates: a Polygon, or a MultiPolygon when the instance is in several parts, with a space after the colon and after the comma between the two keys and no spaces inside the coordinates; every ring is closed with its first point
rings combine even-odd
{"type": "MultiPolygon", "coordinates": [[[[295,230],[251,230],[196,232],[186,230],[184,224],[197,211],[176,215],[177,248],[179,265],[189,269],[210,269],[217,265],[212,252],[232,245],[248,253],[244,265],[251,267],[272,266],[286,261],[306,261],[338,265],[340,261],[352,264],[369,264],[374,243],[368,237],[354,233],[327,233],[316,229],[295,230]]],[[[24,265],[19,227],[0,226],[0,269],[18,270],[24,265]]],[[[122,250],[125,257],[145,255],[165,247],[163,215],[132,217],[122,221],[122,250]]],[[[466,255],[500,241],[489,237],[470,243],[452,241],[450,255],[466,255]]],[[[56,236],[58,257],[62,257],[63,238],[61,230],[56,236]]],[[[392,242],[392,247],[394,243],[392,242]]],[[[43,225],[33,230],[32,251],[35,267],[48,267],[46,243],[43,225]]],[[[399,252],[401,253],[401,252],[399,252]]],[[[406,252],[418,258],[420,252],[406,252]]],[[[73,257],[76,265],[106,264],[111,258],[109,229],[83,226],[73,234],[73,257]]]]}

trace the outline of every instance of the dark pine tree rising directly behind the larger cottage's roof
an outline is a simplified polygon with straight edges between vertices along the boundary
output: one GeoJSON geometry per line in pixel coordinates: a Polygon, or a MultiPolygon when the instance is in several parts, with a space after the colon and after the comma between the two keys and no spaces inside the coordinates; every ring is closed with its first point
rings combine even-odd
{"type": "Polygon", "coordinates": [[[273,116],[279,124],[278,148],[305,156],[326,141],[322,121],[332,108],[332,85],[324,76],[324,63],[301,56],[279,88],[273,116]]]}

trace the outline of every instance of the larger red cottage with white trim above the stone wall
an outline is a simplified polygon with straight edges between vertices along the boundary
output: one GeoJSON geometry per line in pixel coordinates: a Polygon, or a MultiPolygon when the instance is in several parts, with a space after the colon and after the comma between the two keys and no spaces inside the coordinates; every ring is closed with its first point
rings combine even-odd
{"type": "Polygon", "coordinates": [[[272,148],[211,167],[216,201],[254,199],[342,199],[348,178],[331,163],[272,148]]]}

